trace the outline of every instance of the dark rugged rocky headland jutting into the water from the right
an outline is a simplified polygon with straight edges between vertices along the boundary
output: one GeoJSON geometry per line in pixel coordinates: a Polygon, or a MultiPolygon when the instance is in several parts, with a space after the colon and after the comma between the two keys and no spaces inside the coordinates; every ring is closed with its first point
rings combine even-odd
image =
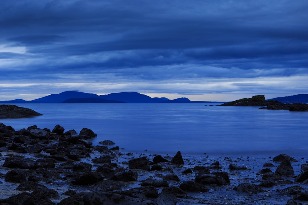
{"type": "Polygon", "coordinates": [[[266,106],[260,109],[308,111],[308,104],[306,103],[281,103],[273,100],[265,101],[264,95],[256,95],[251,98],[243,98],[233,102],[227,102],[221,104],[221,106],[266,106]]]}

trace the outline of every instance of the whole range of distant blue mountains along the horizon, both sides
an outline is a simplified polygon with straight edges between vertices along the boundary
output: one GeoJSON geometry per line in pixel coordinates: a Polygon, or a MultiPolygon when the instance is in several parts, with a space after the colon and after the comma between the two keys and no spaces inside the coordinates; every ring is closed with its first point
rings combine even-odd
{"type": "MultiPolygon", "coordinates": [[[[282,103],[307,103],[308,94],[299,94],[287,97],[277,97],[268,100],[277,100],[282,103]]],[[[32,101],[15,99],[11,101],[0,101],[6,103],[225,103],[213,101],[190,101],[186,97],[170,100],[165,97],[149,97],[137,92],[111,93],[107,95],[96,95],[93,93],[82,93],[77,91],[65,91],[59,94],[51,94],[32,101]]]]}

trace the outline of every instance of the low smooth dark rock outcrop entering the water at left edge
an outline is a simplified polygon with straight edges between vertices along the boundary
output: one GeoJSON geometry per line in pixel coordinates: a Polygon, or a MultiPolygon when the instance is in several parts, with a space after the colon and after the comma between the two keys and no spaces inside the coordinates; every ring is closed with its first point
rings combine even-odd
{"type": "Polygon", "coordinates": [[[20,118],[20,117],[33,117],[42,114],[35,112],[29,108],[22,108],[16,105],[1,104],[0,105],[0,119],[4,118],[20,118]]]}

